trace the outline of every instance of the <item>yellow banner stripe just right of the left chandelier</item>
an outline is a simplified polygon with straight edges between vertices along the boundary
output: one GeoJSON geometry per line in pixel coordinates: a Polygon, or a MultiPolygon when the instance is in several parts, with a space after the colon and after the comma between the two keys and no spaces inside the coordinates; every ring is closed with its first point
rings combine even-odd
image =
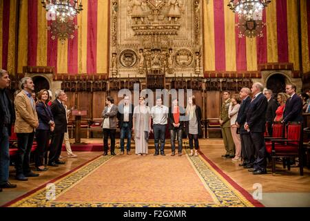
{"type": "Polygon", "coordinates": [[[78,16],[78,71],[87,73],[87,0],[82,0],[83,11],[78,16]]]}

